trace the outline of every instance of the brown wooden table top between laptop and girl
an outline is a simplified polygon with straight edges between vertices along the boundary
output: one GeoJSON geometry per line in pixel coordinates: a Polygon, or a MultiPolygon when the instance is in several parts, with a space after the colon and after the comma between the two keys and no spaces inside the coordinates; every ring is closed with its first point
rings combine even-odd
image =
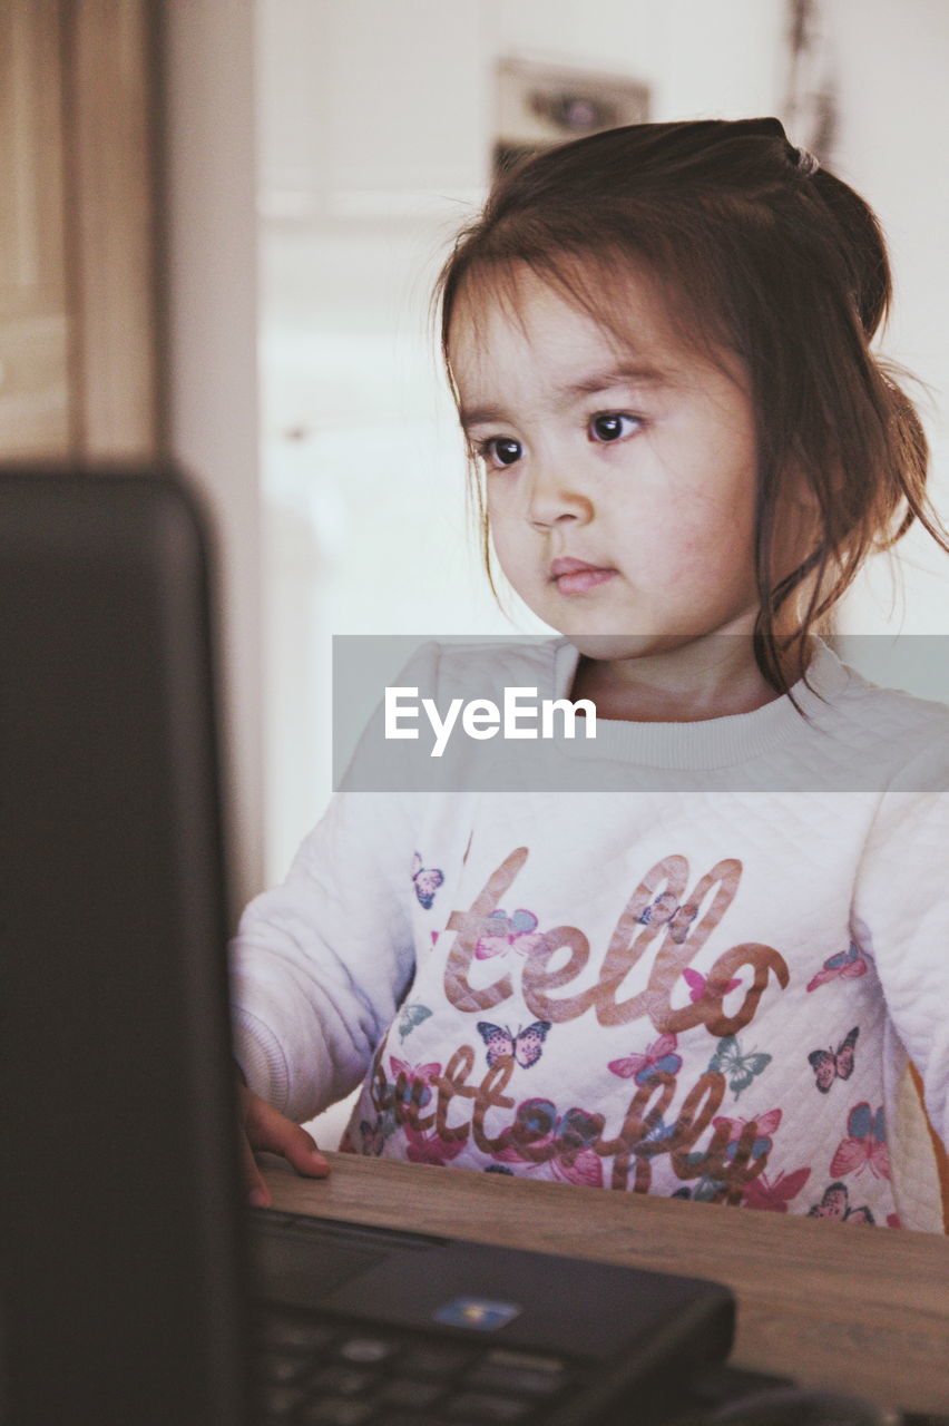
{"type": "Polygon", "coordinates": [[[266,1159],[276,1208],[714,1278],[732,1360],[882,1406],[949,1412],[949,1239],[598,1188],[331,1154],[266,1159]]]}

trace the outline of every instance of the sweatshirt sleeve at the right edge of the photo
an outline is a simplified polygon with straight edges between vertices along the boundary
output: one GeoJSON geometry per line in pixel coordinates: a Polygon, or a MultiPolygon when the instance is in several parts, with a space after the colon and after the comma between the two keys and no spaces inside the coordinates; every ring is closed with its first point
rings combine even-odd
{"type": "Polygon", "coordinates": [[[882,794],[854,911],[930,1122],[949,1142],[949,724],[882,794]]]}

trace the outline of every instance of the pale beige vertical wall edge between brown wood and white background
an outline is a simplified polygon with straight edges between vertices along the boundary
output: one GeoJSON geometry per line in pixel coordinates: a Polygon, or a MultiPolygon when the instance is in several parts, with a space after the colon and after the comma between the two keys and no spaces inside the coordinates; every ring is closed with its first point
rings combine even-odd
{"type": "Polygon", "coordinates": [[[234,900],[264,876],[252,0],[168,0],[171,449],[219,528],[234,900]]]}

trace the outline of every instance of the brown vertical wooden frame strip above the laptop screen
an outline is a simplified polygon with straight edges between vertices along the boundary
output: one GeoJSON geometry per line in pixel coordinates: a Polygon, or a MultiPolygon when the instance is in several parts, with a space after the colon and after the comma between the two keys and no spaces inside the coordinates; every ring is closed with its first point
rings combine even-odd
{"type": "Polygon", "coordinates": [[[147,459],[164,441],[160,6],[63,0],[70,445],[147,459]]]}

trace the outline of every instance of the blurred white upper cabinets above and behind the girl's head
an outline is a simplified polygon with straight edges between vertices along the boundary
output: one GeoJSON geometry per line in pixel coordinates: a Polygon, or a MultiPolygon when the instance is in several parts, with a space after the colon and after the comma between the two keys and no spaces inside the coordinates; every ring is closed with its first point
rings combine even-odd
{"type": "Polygon", "coordinates": [[[774,113],[784,0],[258,0],[265,188],[479,187],[500,56],[644,78],[654,117],[774,113]]]}

